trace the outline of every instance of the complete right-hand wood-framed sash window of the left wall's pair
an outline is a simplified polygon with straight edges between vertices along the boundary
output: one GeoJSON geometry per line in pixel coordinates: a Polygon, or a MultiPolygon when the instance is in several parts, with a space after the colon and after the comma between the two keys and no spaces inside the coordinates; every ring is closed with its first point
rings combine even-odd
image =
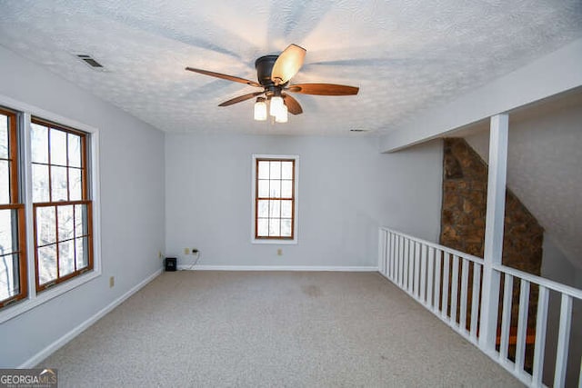
{"type": "Polygon", "coordinates": [[[93,267],[87,135],[32,120],[36,290],[93,267]]]}

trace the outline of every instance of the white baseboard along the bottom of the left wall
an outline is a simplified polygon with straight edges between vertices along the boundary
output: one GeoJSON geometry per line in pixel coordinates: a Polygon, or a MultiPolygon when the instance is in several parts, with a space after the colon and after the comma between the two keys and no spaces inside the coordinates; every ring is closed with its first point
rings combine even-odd
{"type": "Polygon", "coordinates": [[[136,284],[129,291],[127,291],[126,293],[124,293],[123,295],[121,295],[120,297],[115,299],[115,301],[113,301],[112,303],[107,304],[103,309],[101,309],[99,312],[95,313],[95,315],[93,315],[92,317],[87,319],[84,323],[79,324],[73,330],[71,330],[69,333],[66,333],[61,338],[57,339],[54,343],[51,343],[50,345],[46,346],[45,349],[36,353],[33,357],[26,360],[25,363],[22,363],[20,366],[18,366],[18,368],[23,369],[23,368],[35,367],[36,364],[43,361],[46,357],[48,357],[52,353],[55,353],[58,349],[60,349],[66,343],[68,343],[69,341],[74,339],[80,333],[83,333],[83,331],[85,331],[85,329],[87,329],[93,323],[97,322],[99,319],[103,318],[103,316],[105,316],[106,313],[109,313],[111,310],[115,309],[115,307],[117,307],[119,304],[123,303],[125,301],[125,299],[129,298],[131,295],[138,292],[142,287],[144,287],[146,284],[150,283],[152,280],[154,280],[156,278],[157,275],[159,275],[161,273],[162,273],[162,269],[160,268],[154,274],[147,276],[146,279],[144,279],[142,282],[140,282],[139,284],[136,284]]]}

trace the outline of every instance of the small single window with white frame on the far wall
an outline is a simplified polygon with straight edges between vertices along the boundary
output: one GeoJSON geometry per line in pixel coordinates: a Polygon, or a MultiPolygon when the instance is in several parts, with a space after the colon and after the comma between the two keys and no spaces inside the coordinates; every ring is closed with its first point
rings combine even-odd
{"type": "Polygon", "coordinates": [[[253,155],[253,242],[295,243],[296,155],[253,155]]]}

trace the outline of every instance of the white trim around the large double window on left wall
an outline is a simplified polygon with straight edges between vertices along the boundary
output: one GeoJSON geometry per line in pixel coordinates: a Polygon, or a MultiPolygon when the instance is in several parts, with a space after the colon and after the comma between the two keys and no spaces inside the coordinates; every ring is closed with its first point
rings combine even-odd
{"type": "MultiPolygon", "coordinates": [[[[87,172],[90,186],[90,197],[93,202],[93,271],[51,287],[43,293],[36,293],[35,290],[35,271],[27,271],[27,287],[28,295],[25,299],[18,303],[13,303],[5,309],[0,310],[0,323],[4,323],[15,316],[25,313],[36,306],[46,303],[51,299],[67,293],[76,287],[88,283],[95,278],[101,276],[101,204],[100,204],[100,174],[99,174],[99,129],[94,126],[77,122],[73,119],[54,114],[52,112],[41,109],[32,104],[25,104],[5,95],[0,95],[0,104],[17,111],[20,124],[24,127],[23,140],[21,145],[20,163],[24,166],[21,175],[24,176],[24,194],[23,201],[25,203],[25,233],[26,233],[26,252],[34,252],[34,225],[33,219],[33,205],[32,205],[32,167],[31,167],[31,146],[30,146],[30,122],[31,117],[42,117],[45,120],[55,122],[72,128],[77,128],[87,134],[90,134],[90,142],[87,148],[88,158],[90,161],[90,170],[87,172]]],[[[27,268],[35,268],[35,255],[27,254],[26,258],[27,268]]]]}

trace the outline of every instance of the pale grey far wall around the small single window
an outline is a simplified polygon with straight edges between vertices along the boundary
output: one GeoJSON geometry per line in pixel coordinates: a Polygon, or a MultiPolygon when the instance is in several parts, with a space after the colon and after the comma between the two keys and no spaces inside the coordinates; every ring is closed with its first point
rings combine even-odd
{"type": "Polygon", "coordinates": [[[166,253],[181,264],[196,247],[206,265],[376,266],[379,225],[437,241],[441,176],[439,141],[379,154],[376,138],[357,136],[166,134],[166,253]],[[296,245],[251,244],[252,154],[299,155],[296,245]]]}

